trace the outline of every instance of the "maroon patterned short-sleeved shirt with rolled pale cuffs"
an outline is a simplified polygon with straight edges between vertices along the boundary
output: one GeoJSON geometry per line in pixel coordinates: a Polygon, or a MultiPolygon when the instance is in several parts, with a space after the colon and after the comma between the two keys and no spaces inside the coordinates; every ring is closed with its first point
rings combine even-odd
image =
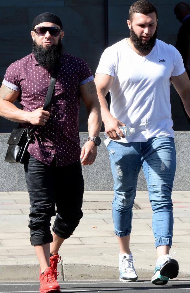
{"type": "MultiPolygon", "coordinates": [[[[37,126],[28,151],[47,165],[56,155],[57,166],[65,166],[80,159],[79,86],[94,77],[84,60],[66,53],[62,54],[58,74],[49,108],[51,115],[45,126],[37,126]]],[[[18,101],[24,111],[34,111],[44,105],[50,77],[31,53],[8,67],[3,84],[20,91],[18,101]]],[[[32,127],[30,123],[21,123],[21,126],[32,127]]]]}

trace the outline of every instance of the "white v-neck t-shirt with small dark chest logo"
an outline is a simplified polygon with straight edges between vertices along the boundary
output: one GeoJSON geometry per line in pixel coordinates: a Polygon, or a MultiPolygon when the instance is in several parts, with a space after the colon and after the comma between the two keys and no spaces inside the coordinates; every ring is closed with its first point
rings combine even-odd
{"type": "Polygon", "coordinates": [[[142,57],[126,38],[102,54],[96,73],[114,76],[110,113],[136,132],[119,142],[146,142],[150,137],[174,137],[170,77],[184,73],[182,56],[172,45],[156,40],[142,57]]]}

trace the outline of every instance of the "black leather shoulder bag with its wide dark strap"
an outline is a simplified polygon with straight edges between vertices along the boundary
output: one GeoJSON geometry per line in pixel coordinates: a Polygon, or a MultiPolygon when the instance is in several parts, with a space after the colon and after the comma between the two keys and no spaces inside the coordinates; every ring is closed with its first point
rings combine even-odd
{"type": "MultiPolygon", "coordinates": [[[[48,110],[49,108],[57,77],[58,76],[56,74],[51,74],[43,110],[48,110]]],[[[15,127],[13,129],[7,142],[9,146],[5,156],[5,162],[23,164],[35,128],[36,126],[32,127],[31,129],[26,127],[15,127]]]]}

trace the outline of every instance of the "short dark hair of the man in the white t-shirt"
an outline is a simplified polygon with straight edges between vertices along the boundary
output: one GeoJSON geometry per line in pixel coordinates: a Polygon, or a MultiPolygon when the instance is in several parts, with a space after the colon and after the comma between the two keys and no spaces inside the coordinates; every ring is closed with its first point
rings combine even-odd
{"type": "Polygon", "coordinates": [[[129,8],[129,20],[132,21],[132,17],[134,13],[142,13],[142,14],[149,14],[152,12],[156,13],[156,18],[158,18],[158,12],[156,7],[146,0],[139,0],[134,2],[131,7],[129,8]]]}

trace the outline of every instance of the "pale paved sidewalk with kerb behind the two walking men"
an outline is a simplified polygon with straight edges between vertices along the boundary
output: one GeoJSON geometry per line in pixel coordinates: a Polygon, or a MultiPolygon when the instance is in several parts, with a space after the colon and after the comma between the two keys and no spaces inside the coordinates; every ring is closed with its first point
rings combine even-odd
{"type": "MultiPolygon", "coordinates": [[[[59,280],[118,279],[118,244],[113,232],[113,192],[84,192],[84,216],[59,253],[59,280]]],[[[190,279],[190,192],[174,191],[174,236],[178,279],[190,279]]],[[[0,281],[37,280],[39,265],[30,245],[27,192],[0,193],[0,281]]],[[[139,279],[151,279],[156,262],[147,191],[137,192],[133,209],[131,250],[139,279]]],[[[53,218],[52,218],[53,222],[53,218]]]]}

